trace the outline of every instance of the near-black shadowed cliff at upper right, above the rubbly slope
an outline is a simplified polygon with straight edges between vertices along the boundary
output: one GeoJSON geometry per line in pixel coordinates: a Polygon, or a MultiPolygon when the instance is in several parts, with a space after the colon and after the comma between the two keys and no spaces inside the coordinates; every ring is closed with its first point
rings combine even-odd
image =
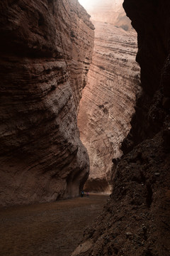
{"type": "Polygon", "coordinates": [[[135,3],[126,0],[124,8],[137,31],[137,62],[141,67],[143,88],[142,95],[137,100],[135,117],[132,119],[132,130],[123,144],[123,150],[127,151],[143,139],[153,137],[161,129],[166,111],[170,107],[167,75],[170,18],[168,1],[135,3]]]}

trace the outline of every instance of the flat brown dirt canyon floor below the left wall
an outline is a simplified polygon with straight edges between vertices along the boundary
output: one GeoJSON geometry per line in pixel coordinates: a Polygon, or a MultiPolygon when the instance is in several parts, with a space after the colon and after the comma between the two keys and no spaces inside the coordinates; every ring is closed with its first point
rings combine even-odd
{"type": "Polygon", "coordinates": [[[0,255],[68,256],[108,196],[0,209],[0,255]]]}

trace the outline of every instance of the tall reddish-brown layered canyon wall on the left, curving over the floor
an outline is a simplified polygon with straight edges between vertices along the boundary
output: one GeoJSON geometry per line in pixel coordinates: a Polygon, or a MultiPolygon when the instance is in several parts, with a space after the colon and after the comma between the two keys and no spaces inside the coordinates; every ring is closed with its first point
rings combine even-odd
{"type": "Polygon", "coordinates": [[[77,196],[89,174],[77,106],[94,26],[77,0],[1,1],[0,205],[77,196]]]}

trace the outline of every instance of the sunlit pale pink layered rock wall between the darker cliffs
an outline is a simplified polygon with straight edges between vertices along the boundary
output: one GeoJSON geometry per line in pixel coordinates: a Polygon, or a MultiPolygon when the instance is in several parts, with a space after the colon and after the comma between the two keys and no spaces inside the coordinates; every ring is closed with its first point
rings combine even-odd
{"type": "Polygon", "coordinates": [[[89,152],[86,190],[110,191],[112,159],[130,131],[140,67],[135,62],[136,33],[94,22],[95,43],[88,82],[80,102],[78,126],[89,152]]]}

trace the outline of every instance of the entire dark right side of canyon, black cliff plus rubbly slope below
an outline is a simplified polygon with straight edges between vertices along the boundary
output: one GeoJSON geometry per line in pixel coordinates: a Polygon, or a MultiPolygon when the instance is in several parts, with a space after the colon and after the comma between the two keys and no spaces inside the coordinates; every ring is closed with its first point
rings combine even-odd
{"type": "Polygon", "coordinates": [[[125,0],[124,7],[138,34],[143,92],[111,199],[77,251],[81,256],[169,256],[170,2],[125,0]]]}

